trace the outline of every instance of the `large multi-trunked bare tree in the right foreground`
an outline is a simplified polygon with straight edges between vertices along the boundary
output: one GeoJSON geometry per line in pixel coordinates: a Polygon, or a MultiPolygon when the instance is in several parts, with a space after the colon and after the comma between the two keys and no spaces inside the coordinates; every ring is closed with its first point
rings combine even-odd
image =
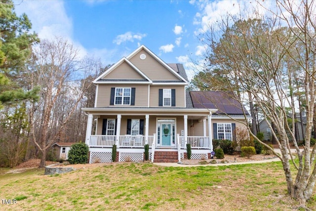
{"type": "Polygon", "coordinates": [[[231,86],[229,93],[234,93],[240,104],[255,104],[270,120],[268,125],[281,150],[281,155],[275,151],[274,154],[282,162],[288,194],[305,207],[316,181],[316,147],[310,151],[316,97],[316,5],[314,0],[277,0],[276,5],[277,11],[268,11],[266,16],[228,15],[211,25],[202,35],[202,41],[208,45],[205,55],[210,62],[208,68],[219,68],[227,80],[236,82],[241,98],[236,86],[231,86]],[[291,81],[295,77],[304,81],[304,85],[295,87],[291,81]],[[298,109],[295,88],[306,98],[304,150],[298,147],[295,124],[288,123],[289,119],[294,123],[298,109]],[[291,108],[290,115],[287,107],[291,108]],[[289,153],[289,137],[297,151],[298,165],[289,153]],[[297,169],[295,178],[291,160],[297,169]]]}

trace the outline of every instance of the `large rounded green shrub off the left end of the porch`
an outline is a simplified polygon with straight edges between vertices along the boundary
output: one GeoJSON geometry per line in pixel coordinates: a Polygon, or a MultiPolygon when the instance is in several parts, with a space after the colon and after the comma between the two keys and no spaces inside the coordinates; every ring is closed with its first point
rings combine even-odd
{"type": "Polygon", "coordinates": [[[89,147],[83,142],[75,143],[71,146],[68,153],[70,164],[86,164],[88,162],[89,147]]]}

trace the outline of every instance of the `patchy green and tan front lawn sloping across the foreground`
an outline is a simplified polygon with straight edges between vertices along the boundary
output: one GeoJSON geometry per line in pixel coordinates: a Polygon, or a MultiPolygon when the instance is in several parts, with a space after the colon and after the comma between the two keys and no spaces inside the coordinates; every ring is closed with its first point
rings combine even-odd
{"type": "MultiPolygon", "coordinates": [[[[1,211],[286,211],[298,205],[286,194],[280,162],[195,168],[123,163],[55,175],[5,171],[0,169],[1,211]]],[[[311,210],[315,200],[308,203],[311,210]]]]}

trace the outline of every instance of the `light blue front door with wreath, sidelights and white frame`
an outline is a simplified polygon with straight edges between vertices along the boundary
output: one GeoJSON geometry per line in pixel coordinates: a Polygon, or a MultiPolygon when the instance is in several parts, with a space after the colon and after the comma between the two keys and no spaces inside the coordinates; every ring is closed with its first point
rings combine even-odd
{"type": "Polygon", "coordinates": [[[157,146],[174,147],[175,144],[175,120],[158,120],[157,122],[157,146]]]}

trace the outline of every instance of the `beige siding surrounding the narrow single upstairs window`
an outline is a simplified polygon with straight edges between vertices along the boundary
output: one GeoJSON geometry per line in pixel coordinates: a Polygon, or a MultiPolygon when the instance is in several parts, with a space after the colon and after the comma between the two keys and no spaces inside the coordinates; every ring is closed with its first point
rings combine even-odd
{"type": "Polygon", "coordinates": [[[184,86],[177,85],[151,85],[150,86],[150,105],[149,107],[158,107],[159,106],[159,88],[174,88],[176,89],[176,107],[185,107],[185,94],[184,86]]]}

